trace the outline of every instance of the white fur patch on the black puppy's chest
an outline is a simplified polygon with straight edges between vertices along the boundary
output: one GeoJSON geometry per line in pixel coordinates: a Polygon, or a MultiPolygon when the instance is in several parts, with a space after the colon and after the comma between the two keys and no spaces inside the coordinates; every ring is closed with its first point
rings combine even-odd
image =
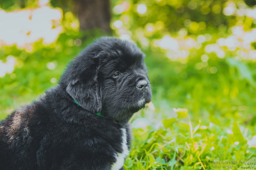
{"type": "Polygon", "coordinates": [[[127,146],[127,139],[126,139],[126,129],[122,128],[122,148],[123,152],[118,153],[115,155],[116,157],[116,162],[111,166],[111,170],[119,170],[124,166],[124,159],[126,156],[129,155],[129,150],[127,146]]]}

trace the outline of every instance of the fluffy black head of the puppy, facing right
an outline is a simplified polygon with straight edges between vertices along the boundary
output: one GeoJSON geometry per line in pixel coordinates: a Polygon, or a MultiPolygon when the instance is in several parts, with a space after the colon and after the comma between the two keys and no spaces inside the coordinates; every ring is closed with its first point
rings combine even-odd
{"type": "Polygon", "coordinates": [[[68,65],[60,84],[85,110],[127,122],[151,100],[144,57],[134,43],[102,37],[68,65]]]}

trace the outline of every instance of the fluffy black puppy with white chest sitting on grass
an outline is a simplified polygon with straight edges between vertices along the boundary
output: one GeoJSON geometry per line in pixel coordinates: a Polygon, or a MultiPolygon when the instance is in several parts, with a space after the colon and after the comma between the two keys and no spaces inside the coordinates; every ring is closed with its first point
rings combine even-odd
{"type": "Polygon", "coordinates": [[[85,48],[59,85],[1,122],[0,169],[122,169],[128,120],[151,99],[143,60],[116,38],[85,48]]]}

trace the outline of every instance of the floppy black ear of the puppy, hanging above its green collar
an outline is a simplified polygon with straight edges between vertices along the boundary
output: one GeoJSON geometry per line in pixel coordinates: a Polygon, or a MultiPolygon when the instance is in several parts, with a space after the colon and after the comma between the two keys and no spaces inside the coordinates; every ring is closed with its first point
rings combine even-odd
{"type": "Polygon", "coordinates": [[[67,93],[79,105],[81,105],[82,108],[95,113],[100,112],[101,98],[97,75],[99,69],[98,64],[94,63],[93,61],[82,62],[76,60],[72,64],[72,67],[76,70],[76,78],[71,79],[68,82],[66,88],[67,93]],[[86,65],[81,68],[81,65],[83,65],[83,63],[86,63],[86,65]]]}

